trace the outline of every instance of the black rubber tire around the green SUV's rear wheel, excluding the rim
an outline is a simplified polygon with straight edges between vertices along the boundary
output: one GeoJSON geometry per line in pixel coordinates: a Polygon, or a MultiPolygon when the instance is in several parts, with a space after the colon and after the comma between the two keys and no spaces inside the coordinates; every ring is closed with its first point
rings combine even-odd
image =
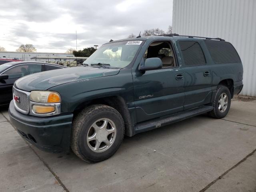
{"type": "Polygon", "coordinates": [[[217,119],[224,118],[228,114],[228,111],[230,109],[230,104],[231,104],[230,90],[226,86],[218,86],[217,92],[214,96],[214,102],[212,103],[213,110],[210,111],[208,114],[213,118],[217,118],[217,119]],[[218,108],[219,107],[218,102],[221,94],[223,93],[226,94],[228,97],[228,104],[227,104],[226,110],[224,112],[221,112],[220,109],[218,108]]]}

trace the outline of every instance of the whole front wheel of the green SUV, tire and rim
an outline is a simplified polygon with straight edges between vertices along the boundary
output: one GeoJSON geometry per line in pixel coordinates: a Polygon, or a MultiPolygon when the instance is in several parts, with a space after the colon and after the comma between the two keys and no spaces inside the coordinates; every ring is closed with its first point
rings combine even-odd
{"type": "Polygon", "coordinates": [[[118,150],[124,138],[124,121],[114,108],[96,104],[74,119],[71,148],[86,162],[106,160],[118,150]]]}

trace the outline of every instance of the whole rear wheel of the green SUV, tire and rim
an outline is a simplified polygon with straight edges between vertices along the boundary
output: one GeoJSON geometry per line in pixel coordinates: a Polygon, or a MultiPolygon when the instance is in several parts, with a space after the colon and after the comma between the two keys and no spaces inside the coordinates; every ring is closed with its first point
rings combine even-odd
{"type": "Polygon", "coordinates": [[[218,86],[217,92],[212,103],[213,110],[209,115],[213,118],[223,118],[228,114],[231,104],[230,90],[226,86],[218,86]]]}

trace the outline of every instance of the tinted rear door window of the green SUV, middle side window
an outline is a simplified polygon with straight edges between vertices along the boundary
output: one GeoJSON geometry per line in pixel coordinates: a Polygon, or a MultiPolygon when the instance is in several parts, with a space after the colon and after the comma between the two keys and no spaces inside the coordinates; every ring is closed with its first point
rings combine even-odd
{"type": "Polygon", "coordinates": [[[204,53],[197,42],[179,41],[186,66],[205,64],[204,53]]]}

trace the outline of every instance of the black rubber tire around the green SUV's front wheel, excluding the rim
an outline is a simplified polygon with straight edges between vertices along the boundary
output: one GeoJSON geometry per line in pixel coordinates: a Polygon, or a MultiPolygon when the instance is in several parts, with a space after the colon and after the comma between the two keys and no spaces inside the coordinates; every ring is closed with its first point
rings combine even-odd
{"type": "Polygon", "coordinates": [[[124,138],[124,120],[114,108],[95,104],[84,108],[75,118],[72,125],[71,148],[85,162],[100,162],[110,158],[120,147],[124,138]],[[87,142],[87,134],[92,124],[101,118],[108,118],[116,125],[116,136],[112,145],[103,152],[92,151],[87,142]]]}

